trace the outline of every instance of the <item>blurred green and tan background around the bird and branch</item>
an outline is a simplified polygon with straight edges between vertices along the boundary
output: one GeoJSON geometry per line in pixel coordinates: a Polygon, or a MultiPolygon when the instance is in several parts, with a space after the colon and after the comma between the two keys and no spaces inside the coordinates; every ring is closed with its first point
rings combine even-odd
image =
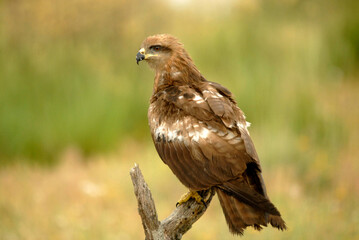
{"type": "MultiPolygon", "coordinates": [[[[246,113],[289,227],[359,238],[359,2],[1,0],[0,239],[143,239],[129,170],[159,217],[186,189],[157,156],[142,40],[171,33],[246,113]]],[[[238,239],[217,198],[183,239],[238,239]]]]}

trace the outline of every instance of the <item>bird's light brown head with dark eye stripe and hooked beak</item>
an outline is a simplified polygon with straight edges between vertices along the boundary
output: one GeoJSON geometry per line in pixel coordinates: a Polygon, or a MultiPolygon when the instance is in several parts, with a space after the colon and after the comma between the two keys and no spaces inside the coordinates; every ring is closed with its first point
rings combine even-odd
{"type": "MultiPolygon", "coordinates": [[[[145,60],[155,70],[161,69],[176,54],[185,53],[183,44],[169,34],[158,34],[147,37],[136,55],[137,64],[145,60]]],[[[185,53],[185,55],[187,55],[185,53]]]]}

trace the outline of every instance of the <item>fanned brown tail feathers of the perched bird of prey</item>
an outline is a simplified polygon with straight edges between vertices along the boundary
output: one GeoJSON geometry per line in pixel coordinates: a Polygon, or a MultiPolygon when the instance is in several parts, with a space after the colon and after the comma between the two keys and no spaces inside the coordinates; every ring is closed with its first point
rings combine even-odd
{"type": "Polygon", "coordinates": [[[273,215],[262,209],[254,208],[222,189],[217,188],[216,192],[229,229],[233,234],[243,234],[243,230],[248,226],[261,230],[262,226],[267,226],[268,223],[280,230],[286,229],[285,222],[280,215],[273,215]]]}

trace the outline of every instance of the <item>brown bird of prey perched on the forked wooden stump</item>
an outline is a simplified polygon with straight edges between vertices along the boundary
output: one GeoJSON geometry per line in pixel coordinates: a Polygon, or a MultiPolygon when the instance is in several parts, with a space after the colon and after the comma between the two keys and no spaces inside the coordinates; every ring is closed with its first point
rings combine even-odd
{"type": "MultiPolygon", "coordinates": [[[[231,92],[206,80],[179,40],[147,37],[136,55],[155,71],[148,120],[156,150],[177,178],[197,191],[215,189],[233,234],[270,223],[286,229],[271,203],[245,116],[231,92]]],[[[182,202],[183,202],[182,201],[182,202]]]]}

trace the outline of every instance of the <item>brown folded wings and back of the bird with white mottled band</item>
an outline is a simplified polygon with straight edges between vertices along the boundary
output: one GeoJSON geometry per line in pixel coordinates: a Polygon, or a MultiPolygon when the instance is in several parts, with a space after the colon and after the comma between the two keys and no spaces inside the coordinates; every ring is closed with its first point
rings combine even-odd
{"type": "Polygon", "coordinates": [[[174,118],[169,121],[171,126],[153,131],[156,149],[177,177],[194,189],[235,179],[247,163],[258,161],[252,142],[246,143],[250,137],[243,125],[244,115],[230,92],[222,88],[218,91],[212,84],[199,89],[171,86],[157,96],[180,110],[167,116],[174,118]]]}

